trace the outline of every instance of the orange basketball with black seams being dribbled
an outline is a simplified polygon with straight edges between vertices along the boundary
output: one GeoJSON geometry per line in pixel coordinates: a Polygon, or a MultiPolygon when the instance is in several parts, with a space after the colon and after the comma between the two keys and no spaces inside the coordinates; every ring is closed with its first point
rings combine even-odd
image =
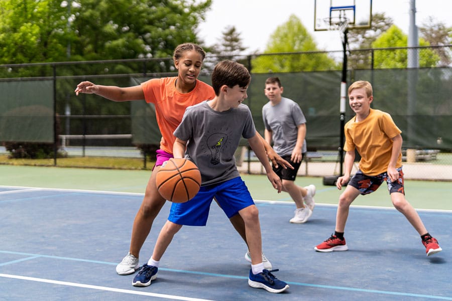
{"type": "Polygon", "coordinates": [[[156,185],[162,197],[174,203],[191,200],[201,187],[201,173],[186,159],[170,159],[157,172],[156,185]]]}

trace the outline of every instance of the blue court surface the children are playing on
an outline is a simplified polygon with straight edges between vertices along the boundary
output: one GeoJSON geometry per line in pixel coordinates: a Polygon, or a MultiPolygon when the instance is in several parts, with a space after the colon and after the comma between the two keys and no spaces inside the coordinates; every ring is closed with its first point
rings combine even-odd
{"type": "MultiPolygon", "coordinates": [[[[317,191],[317,195],[321,191],[317,191]]],[[[349,250],[313,247],[334,230],[336,207],[318,204],[290,224],[290,202],[257,201],[263,249],[290,285],[275,294],[248,286],[245,243],[213,203],[206,227],[183,227],[148,287],[116,264],[129,250],[143,195],[0,186],[1,300],[452,300],[452,212],[419,214],[443,251],[426,257],[416,231],[393,208],[352,207],[349,250]]],[[[142,251],[152,253],[170,204],[142,251]]]]}

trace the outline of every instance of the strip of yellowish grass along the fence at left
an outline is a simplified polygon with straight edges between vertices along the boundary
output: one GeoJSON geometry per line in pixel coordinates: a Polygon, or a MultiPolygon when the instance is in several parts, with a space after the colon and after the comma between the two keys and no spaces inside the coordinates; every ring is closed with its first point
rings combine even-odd
{"type": "MultiPolygon", "coordinates": [[[[53,159],[9,159],[8,155],[0,155],[0,164],[18,166],[55,166],[53,159]]],[[[67,157],[58,158],[57,167],[103,168],[124,170],[151,170],[154,162],[147,162],[144,168],[143,159],[116,157],[67,157]]]]}

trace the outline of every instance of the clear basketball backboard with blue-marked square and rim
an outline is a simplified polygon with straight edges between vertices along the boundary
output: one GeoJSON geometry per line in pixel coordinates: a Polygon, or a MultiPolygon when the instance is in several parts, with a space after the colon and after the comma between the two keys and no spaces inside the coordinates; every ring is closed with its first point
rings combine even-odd
{"type": "Polygon", "coordinates": [[[314,31],[371,27],[372,0],[314,0],[314,31]]]}

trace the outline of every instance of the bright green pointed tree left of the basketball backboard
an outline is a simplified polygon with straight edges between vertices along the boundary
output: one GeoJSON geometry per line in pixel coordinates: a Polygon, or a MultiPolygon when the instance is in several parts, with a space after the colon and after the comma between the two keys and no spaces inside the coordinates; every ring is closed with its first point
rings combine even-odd
{"type": "Polygon", "coordinates": [[[255,73],[338,68],[332,58],[318,51],[314,39],[295,15],[291,15],[286,23],[278,26],[270,36],[263,54],[252,60],[252,70],[255,73]],[[296,52],[304,53],[295,54],[296,52]],[[276,55],[276,53],[284,54],[276,55]]]}

